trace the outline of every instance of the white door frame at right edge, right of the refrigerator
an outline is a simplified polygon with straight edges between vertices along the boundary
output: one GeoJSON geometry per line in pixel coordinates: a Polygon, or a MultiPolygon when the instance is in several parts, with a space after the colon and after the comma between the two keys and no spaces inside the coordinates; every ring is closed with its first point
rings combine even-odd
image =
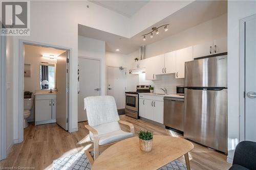
{"type": "Polygon", "coordinates": [[[245,140],[245,22],[254,18],[256,18],[256,14],[239,21],[239,141],[245,140]]]}

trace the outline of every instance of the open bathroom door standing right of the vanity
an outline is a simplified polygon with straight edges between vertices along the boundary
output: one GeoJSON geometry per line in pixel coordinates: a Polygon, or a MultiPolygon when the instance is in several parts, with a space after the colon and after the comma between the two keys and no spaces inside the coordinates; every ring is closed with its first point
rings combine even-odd
{"type": "Polygon", "coordinates": [[[57,58],[56,63],[56,89],[57,89],[57,105],[56,105],[56,118],[57,124],[69,130],[69,93],[68,93],[68,74],[67,74],[67,57],[68,52],[62,53],[57,58]]]}

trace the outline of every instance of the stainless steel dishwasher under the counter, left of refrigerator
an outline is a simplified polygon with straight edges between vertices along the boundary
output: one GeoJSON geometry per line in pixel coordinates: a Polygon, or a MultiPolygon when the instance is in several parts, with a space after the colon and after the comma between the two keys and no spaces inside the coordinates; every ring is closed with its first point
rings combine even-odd
{"type": "Polygon", "coordinates": [[[164,97],[163,124],[175,130],[184,131],[184,99],[164,97]]]}

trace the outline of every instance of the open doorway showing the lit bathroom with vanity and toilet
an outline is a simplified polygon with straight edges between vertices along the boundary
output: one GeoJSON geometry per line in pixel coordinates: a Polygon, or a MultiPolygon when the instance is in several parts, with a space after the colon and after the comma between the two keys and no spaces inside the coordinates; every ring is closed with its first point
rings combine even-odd
{"type": "Polygon", "coordinates": [[[65,131],[70,130],[70,49],[31,42],[21,45],[19,141],[23,141],[24,131],[33,126],[56,123],[65,131]]]}

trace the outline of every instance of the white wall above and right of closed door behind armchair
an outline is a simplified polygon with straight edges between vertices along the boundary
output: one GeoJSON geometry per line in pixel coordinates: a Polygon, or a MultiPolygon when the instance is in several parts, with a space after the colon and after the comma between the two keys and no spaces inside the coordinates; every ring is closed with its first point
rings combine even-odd
{"type": "MultiPolygon", "coordinates": [[[[101,60],[101,94],[105,94],[105,41],[78,36],[78,56],[101,60]]],[[[82,88],[81,86],[79,88],[82,88]]]]}

